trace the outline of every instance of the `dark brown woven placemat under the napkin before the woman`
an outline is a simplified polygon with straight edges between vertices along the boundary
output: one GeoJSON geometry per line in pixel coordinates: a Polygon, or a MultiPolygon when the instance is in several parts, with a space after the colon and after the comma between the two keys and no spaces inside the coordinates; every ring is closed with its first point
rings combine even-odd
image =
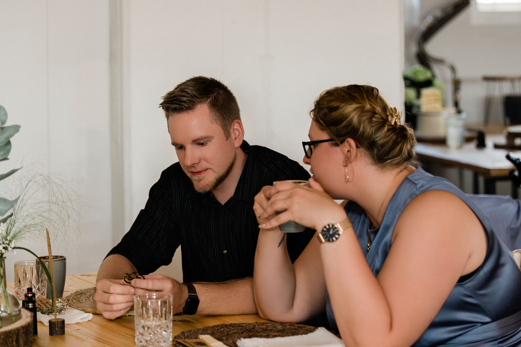
{"type": "MultiPolygon", "coordinates": [[[[270,338],[284,337],[294,335],[304,335],[315,331],[317,328],[309,325],[291,324],[291,323],[231,323],[218,324],[212,327],[204,327],[199,329],[191,329],[178,333],[175,339],[197,339],[199,335],[212,335],[213,338],[222,343],[237,347],[237,340],[248,339],[252,337],[270,338]]],[[[182,344],[175,342],[174,345],[183,347],[182,344]]]]}

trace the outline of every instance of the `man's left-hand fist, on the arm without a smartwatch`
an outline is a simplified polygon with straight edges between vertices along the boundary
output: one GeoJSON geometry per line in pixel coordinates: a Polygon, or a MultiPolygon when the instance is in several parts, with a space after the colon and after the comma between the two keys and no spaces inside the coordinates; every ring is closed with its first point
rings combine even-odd
{"type": "Polygon", "coordinates": [[[134,304],[134,287],[122,279],[101,279],[96,282],[94,300],[103,317],[115,319],[134,304]]]}

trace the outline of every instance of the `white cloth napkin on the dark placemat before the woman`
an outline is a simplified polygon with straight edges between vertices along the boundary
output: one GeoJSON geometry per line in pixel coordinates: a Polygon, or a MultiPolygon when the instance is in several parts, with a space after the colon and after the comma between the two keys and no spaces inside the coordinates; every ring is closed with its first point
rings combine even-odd
{"type": "Polygon", "coordinates": [[[342,340],[320,327],[307,335],[237,340],[239,347],[345,347],[342,340]]]}

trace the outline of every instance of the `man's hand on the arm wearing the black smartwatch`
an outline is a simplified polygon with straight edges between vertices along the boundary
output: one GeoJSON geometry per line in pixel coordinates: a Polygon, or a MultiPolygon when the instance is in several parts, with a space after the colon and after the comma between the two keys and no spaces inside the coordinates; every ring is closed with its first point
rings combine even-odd
{"type": "Polygon", "coordinates": [[[175,279],[164,275],[145,275],[145,279],[134,278],[132,286],[135,294],[143,294],[153,292],[162,292],[172,294],[173,297],[173,314],[183,311],[184,303],[188,299],[188,288],[180,284],[175,279]]]}

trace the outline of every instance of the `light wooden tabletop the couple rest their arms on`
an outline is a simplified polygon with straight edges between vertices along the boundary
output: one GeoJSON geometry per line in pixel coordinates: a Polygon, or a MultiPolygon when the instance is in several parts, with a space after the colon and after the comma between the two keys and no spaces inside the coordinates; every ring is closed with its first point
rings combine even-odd
{"type": "MultiPolygon", "coordinates": [[[[64,296],[84,288],[94,287],[96,273],[67,276],[64,296]]],[[[14,292],[13,282],[7,282],[9,291],[14,292]]],[[[229,323],[269,322],[258,315],[235,316],[173,316],[172,333],[195,328],[229,323]]],[[[135,346],[134,316],[122,316],[114,320],[102,315],[93,315],[88,322],[66,324],[65,335],[49,336],[48,327],[38,322],[38,335],[34,337],[33,347],[83,347],[83,346],[135,346]]]]}

